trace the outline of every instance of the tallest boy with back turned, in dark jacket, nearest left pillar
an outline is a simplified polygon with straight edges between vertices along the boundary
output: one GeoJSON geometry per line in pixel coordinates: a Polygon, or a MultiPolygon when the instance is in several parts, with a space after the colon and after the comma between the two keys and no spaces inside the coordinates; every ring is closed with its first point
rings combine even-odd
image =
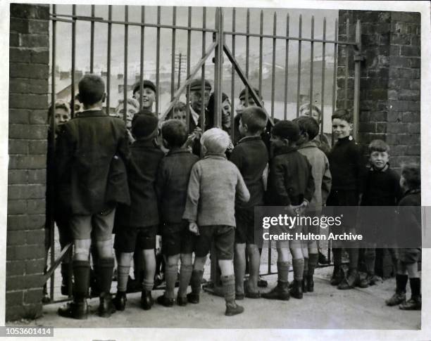
{"type": "Polygon", "coordinates": [[[57,137],[58,199],[71,215],[75,277],[73,302],[58,309],[58,314],[86,319],[92,238],[99,255],[99,315],[108,317],[115,311],[109,292],[114,266],[111,238],[116,203],[130,203],[123,163],[129,150],[125,123],[101,110],[106,98],[103,79],[85,75],[78,88],[84,111],[63,124],[57,137]]]}

